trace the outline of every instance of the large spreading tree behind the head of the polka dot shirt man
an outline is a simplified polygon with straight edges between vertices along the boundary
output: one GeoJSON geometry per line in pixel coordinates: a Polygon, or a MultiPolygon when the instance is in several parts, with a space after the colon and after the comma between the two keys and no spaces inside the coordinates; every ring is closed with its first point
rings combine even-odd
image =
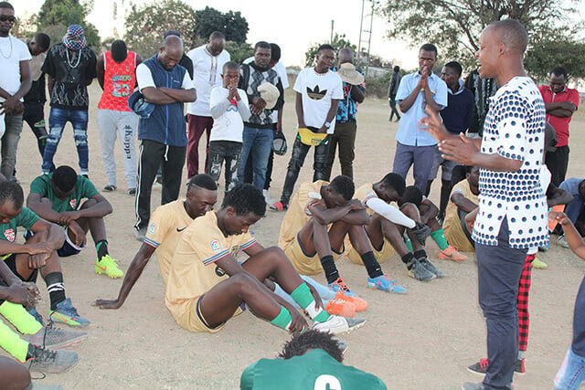
{"type": "MultiPolygon", "coordinates": [[[[379,12],[388,18],[391,28],[388,37],[403,38],[418,46],[430,42],[439,47],[443,58],[456,58],[464,65],[473,66],[473,55],[479,48],[479,36],[488,24],[513,18],[527,27],[529,47],[527,70],[537,74],[544,63],[569,60],[577,68],[573,75],[585,75],[585,64],[578,60],[582,51],[567,52],[564,58],[550,58],[549,47],[574,47],[582,42],[571,37],[580,25],[569,21],[577,10],[565,4],[577,5],[578,0],[386,0],[379,12]],[[553,44],[554,42],[554,44],[553,44]]],[[[549,69],[547,69],[547,72],[549,69]]]]}

